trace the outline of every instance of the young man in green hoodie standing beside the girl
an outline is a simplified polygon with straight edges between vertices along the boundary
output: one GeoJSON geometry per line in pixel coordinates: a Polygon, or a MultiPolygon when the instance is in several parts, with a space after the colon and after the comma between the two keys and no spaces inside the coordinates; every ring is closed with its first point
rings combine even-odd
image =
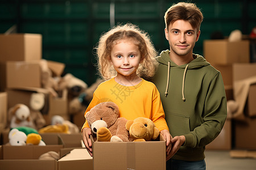
{"type": "Polygon", "coordinates": [[[152,82],[158,88],[172,135],[167,169],[205,169],[205,146],[226,120],[222,76],[202,56],[193,54],[203,14],[193,3],[180,2],[164,15],[170,50],[157,60],[152,82]]]}

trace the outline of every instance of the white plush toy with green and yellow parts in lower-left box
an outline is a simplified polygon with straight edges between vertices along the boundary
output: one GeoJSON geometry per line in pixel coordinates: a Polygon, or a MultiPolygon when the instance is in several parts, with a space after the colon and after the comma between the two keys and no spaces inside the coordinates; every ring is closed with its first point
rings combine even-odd
{"type": "Polygon", "coordinates": [[[39,145],[46,146],[42,141],[42,137],[36,133],[26,134],[19,129],[12,129],[9,132],[9,143],[12,146],[39,145]]]}

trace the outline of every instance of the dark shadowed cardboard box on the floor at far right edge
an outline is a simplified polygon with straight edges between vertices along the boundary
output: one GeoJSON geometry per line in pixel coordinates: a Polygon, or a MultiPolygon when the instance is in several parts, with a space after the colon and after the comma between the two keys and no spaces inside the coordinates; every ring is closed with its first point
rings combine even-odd
{"type": "Polygon", "coordinates": [[[234,122],[235,147],[237,149],[256,150],[256,118],[246,117],[234,122]]]}

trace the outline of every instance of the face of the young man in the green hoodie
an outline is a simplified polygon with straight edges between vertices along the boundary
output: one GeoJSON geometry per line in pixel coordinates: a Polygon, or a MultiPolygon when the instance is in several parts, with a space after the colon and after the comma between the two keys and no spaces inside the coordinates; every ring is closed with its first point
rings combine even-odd
{"type": "Polygon", "coordinates": [[[165,29],[166,39],[170,44],[170,55],[191,56],[192,50],[199,39],[200,31],[197,32],[188,21],[176,20],[169,28],[165,29]]]}

